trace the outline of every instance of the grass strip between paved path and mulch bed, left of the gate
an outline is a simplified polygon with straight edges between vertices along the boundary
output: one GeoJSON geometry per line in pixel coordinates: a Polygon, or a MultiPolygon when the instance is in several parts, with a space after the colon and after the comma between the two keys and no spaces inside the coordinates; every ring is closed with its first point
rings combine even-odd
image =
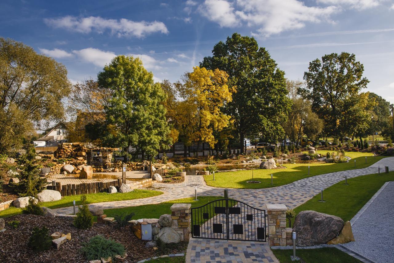
{"type": "Polygon", "coordinates": [[[138,207],[125,207],[115,209],[104,209],[104,214],[109,217],[113,217],[115,214],[131,213],[134,212],[136,215],[134,219],[139,218],[159,218],[162,214],[171,214],[170,207],[175,203],[191,203],[191,207],[201,207],[210,201],[221,199],[220,196],[199,196],[198,201],[195,201],[193,197],[182,198],[172,201],[163,202],[155,205],[140,205],[138,207]]]}

